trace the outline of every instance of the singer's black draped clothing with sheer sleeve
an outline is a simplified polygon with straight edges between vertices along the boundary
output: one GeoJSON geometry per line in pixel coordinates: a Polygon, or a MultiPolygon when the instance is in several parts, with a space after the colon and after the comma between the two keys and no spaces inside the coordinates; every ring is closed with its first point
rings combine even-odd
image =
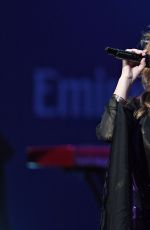
{"type": "Polygon", "coordinates": [[[150,113],[137,120],[139,106],[137,98],[122,105],[112,97],[96,128],[111,142],[101,230],[150,229],[150,113]]]}

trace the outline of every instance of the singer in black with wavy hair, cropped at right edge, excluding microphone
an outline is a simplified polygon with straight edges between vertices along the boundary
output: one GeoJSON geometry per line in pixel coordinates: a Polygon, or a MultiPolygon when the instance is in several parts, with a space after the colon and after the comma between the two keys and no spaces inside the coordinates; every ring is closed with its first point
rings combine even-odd
{"type": "Polygon", "coordinates": [[[143,35],[140,63],[122,61],[116,89],[96,127],[98,139],[111,143],[101,215],[101,230],[150,229],[150,31],[143,35]],[[128,93],[137,78],[143,94],[128,93]]]}

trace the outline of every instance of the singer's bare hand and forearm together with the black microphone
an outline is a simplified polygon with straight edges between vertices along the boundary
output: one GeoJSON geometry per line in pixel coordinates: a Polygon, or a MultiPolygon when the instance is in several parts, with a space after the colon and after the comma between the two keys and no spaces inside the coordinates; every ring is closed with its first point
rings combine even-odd
{"type": "Polygon", "coordinates": [[[150,67],[150,55],[147,54],[147,50],[138,49],[124,51],[106,48],[106,51],[119,59],[123,59],[121,76],[114,94],[126,100],[133,82],[141,75],[145,67],[150,67]]]}

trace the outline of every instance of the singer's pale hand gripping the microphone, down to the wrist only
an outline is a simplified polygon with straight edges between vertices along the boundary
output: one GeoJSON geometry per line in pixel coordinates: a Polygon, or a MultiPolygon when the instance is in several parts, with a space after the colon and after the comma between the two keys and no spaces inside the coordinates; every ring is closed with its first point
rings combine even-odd
{"type": "Polygon", "coordinates": [[[122,61],[122,73],[121,77],[125,77],[127,79],[130,79],[131,84],[140,77],[140,74],[142,70],[145,68],[145,58],[147,50],[138,50],[138,49],[127,49],[126,51],[141,54],[143,56],[141,62],[139,65],[135,64],[134,62],[123,60],[122,61]]]}

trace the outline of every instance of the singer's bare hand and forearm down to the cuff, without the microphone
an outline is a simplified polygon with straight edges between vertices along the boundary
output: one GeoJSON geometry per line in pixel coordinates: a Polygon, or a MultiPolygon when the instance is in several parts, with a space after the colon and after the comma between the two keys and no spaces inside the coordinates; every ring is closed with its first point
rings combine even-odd
{"type": "Polygon", "coordinates": [[[119,78],[118,84],[114,91],[114,94],[122,97],[124,100],[127,99],[128,91],[133,84],[133,82],[140,76],[142,70],[146,66],[145,63],[145,54],[147,50],[137,50],[137,49],[127,49],[129,52],[136,54],[141,54],[143,56],[139,65],[136,65],[134,62],[123,60],[122,62],[122,73],[119,78]]]}

